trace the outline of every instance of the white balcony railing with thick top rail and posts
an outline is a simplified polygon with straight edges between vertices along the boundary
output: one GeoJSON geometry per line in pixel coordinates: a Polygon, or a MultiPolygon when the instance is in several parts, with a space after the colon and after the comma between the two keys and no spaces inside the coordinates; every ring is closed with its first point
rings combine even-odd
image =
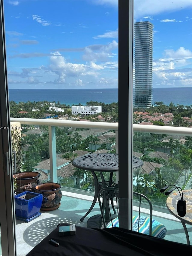
{"type": "MultiPolygon", "coordinates": [[[[22,125],[43,125],[43,126],[49,127],[48,131],[49,131],[49,156],[50,156],[51,182],[57,182],[55,126],[115,130],[116,131],[116,153],[119,153],[119,123],[83,122],[83,121],[72,121],[72,120],[55,120],[55,119],[48,120],[48,119],[13,118],[13,117],[10,118],[10,121],[19,122],[22,125]]],[[[192,128],[186,128],[186,127],[133,124],[133,132],[182,135],[182,136],[192,137],[192,128]]]]}

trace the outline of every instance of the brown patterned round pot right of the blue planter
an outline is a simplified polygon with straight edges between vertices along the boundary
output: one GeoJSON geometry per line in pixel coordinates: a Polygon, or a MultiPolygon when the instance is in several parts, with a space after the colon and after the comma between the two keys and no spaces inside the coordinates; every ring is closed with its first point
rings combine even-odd
{"type": "Polygon", "coordinates": [[[52,211],[57,209],[61,203],[61,185],[54,182],[47,182],[39,184],[35,187],[36,192],[39,194],[43,194],[47,201],[43,199],[43,203],[41,206],[41,210],[43,211],[52,211]]]}

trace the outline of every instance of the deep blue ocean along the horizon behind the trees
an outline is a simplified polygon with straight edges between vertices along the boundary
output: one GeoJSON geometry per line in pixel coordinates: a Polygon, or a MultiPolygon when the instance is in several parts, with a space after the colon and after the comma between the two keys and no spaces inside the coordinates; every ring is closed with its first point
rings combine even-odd
{"type": "MultiPolygon", "coordinates": [[[[118,102],[118,89],[10,89],[9,100],[16,103],[60,101],[61,104],[70,106],[79,103],[86,105],[88,101],[110,104],[118,102]]],[[[192,87],[154,88],[153,104],[155,101],[163,101],[165,105],[169,105],[172,101],[175,105],[190,106],[192,105],[192,87]]]]}

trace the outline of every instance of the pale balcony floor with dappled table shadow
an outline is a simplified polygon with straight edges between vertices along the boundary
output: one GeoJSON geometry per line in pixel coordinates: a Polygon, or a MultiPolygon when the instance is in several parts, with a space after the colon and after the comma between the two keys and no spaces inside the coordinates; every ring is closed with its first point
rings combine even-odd
{"type": "MultiPolygon", "coordinates": [[[[91,193],[89,193],[91,194],[91,193]]],[[[59,223],[76,224],[86,227],[87,220],[91,216],[100,213],[99,204],[96,203],[88,217],[81,222],[79,219],[88,211],[93,196],[82,195],[62,191],[61,206],[53,211],[41,211],[41,215],[29,223],[16,220],[16,242],[17,256],[25,256],[32,248],[43,240],[59,223]]],[[[133,208],[136,215],[137,207],[133,208]]],[[[143,215],[146,215],[143,209],[143,215]]],[[[164,239],[186,244],[186,236],[181,222],[173,217],[168,211],[166,213],[153,211],[153,218],[167,228],[164,239]]],[[[189,238],[192,237],[192,227],[187,226],[189,238]]]]}

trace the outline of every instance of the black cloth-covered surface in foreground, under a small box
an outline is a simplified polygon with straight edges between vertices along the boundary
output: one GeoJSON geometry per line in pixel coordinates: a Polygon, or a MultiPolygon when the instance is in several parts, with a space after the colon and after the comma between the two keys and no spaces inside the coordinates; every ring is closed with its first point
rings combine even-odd
{"type": "MultiPolygon", "coordinates": [[[[66,224],[60,224],[66,225],[66,224]]],[[[147,236],[123,228],[91,229],[76,226],[76,235],[59,236],[59,228],[53,230],[26,256],[140,256],[184,255],[192,253],[192,246],[147,236]],[[50,245],[54,239],[59,247],[50,245]]]]}

